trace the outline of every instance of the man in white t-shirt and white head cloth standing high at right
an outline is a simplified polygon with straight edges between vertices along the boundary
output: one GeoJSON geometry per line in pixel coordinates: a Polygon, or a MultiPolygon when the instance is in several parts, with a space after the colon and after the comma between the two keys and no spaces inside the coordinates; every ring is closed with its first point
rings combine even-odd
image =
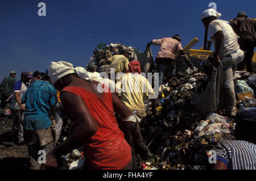
{"type": "Polygon", "coordinates": [[[221,14],[213,9],[205,10],[201,20],[205,27],[209,27],[209,36],[215,47],[214,65],[222,63],[223,87],[226,111],[230,117],[237,115],[236,95],[234,91],[233,71],[243,59],[243,51],[237,42],[237,35],[228,22],[217,19],[221,14]]]}

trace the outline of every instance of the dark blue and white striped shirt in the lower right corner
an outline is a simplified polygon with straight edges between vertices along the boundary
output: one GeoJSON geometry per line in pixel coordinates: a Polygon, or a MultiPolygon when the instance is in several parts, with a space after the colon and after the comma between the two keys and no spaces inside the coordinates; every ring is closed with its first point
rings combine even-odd
{"type": "Polygon", "coordinates": [[[256,170],[256,145],[247,141],[225,140],[216,145],[217,160],[229,170],[256,170]]]}

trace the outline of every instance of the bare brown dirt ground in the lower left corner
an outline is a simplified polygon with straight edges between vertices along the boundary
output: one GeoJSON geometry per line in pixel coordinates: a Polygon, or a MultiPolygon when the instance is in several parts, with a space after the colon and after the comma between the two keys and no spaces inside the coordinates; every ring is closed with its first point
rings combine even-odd
{"type": "Polygon", "coordinates": [[[0,117],[0,169],[28,170],[27,145],[16,145],[10,138],[12,121],[10,117],[0,117]]]}

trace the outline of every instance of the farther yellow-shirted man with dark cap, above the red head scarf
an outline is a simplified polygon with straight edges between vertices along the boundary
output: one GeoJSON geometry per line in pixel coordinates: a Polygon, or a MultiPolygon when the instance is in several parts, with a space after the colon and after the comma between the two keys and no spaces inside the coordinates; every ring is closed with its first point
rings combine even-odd
{"type": "Polygon", "coordinates": [[[115,73],[125,73],[129,64],[129,55],[131,55],[131,52],[128,49],[123,49],[121,50],[121,54],[115,54],[108,58],[107,61],[111,62],[110,65],[115,69],[115,73]]]}

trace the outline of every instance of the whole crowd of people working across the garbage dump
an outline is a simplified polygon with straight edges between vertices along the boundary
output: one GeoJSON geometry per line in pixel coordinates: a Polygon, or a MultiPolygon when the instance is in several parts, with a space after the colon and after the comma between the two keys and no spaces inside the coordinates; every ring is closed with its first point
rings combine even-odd
{"type": "MultiPolygon", "coordinates": [[[[237,64],[240,70],[246,64],[247,71],[254,71],[251,49],[256,42],[256,24],[255,20],[247,18],[245,12],[240,12],[231,26],[218,19],[219,16],[220,13],[208,9],[203,12],[201,20],[204,26],[209,27],[214,44],[213,64],[222,64],[226,110],[230,117],[234,117],[237,101],[233,71],[237,64]]],[[[181,37],[174,35],[147,44],[160,46],[155,60],[159,84],[155,86],[162,85],[164,77],[176,76],[177,54],[196,70],[180,42],[181,37]]],[[[150,99],[151,111],[155,113],[156,96],[152,95],[156,92],[147,78],[141,75],[137,58],[129,60],[130,54],[125,49],[121,54],[108,58],[106,61],[109,63],[100,68],[94,64],[74,68],[70,62],[57,61],[51,62],[46,72],[22,71],[20,80],[16,81],[17,73],[10,71],[10,77],[3,79],[1,108],[11,103],[13,128],[10,136],[16,144],[27,144],[31,169],[58,169],[60,157],[80,146],[85,149],[86,169],[137,169],[137,155],[142,159],[150,156],[139,123],[147,115],[144,100],[150,99]],[[111,74],[114,74],[114,79],[111,79],[111,74]],[[68,119],[73,125],[72,132],[57,145],[63,123],[68,119]],[[46,163],[38,162],[39,150],[46,151],[46,163]]],[[[228,169],[230,166],[234,169],[256,169],[256,145],[238,143],[218,143],[223,149],[218,151],[214,169],[228,169]],[[232,149],[237,146],[241,149],[232,149]],[[236,153],[230,157],[234,150],[236,153]],[[244,162],[240,161],[238,166],[231,162],[234,159],[243,159],[244,162]],[[251,161],[253,159],[254,162],[251,161]]]]}

